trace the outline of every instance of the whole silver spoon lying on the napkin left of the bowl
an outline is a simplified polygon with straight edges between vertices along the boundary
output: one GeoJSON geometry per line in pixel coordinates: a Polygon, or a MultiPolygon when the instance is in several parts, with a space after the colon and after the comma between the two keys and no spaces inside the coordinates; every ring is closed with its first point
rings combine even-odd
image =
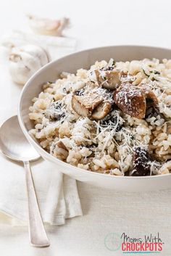
{"type": "Polygon", "coordinates": [[[0,128],[0,148],[10,159],[23,162],[28,191],[28,230],[30,244],[35,247],[49,247],[49,239],[41,219],[38,202],[33,185],[29,161],[38,160],[40,155],[31,146],[20,128],[17,115],[10,117],[0,128]]]}

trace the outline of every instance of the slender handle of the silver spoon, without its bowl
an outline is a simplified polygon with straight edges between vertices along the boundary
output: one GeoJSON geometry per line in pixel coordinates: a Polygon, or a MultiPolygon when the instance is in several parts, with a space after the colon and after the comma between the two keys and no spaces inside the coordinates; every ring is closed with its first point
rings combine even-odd
{"type": "Polygon", "coordinates": [[[46,236],[46,231],[41,219],[41,213],[38,208],[36,192],[33,184],[33,177],[30,170],[30,163],[24,162],[25,178],[28,191],[28,231],[30,244],[34,247],[49,247],[49,239],[46,236]]]}

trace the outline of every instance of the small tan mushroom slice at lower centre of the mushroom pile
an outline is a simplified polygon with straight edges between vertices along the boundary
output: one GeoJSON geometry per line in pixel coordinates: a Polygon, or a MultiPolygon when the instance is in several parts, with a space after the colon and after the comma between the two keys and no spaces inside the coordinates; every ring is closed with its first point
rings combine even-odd
{"type": "Polygon", "coordinates": [[[110,112],[112,104],[109,102],[101,102],[91,115],[92,119],[101,120],[102,118],[106,117],[106,115],[110,112]]]}

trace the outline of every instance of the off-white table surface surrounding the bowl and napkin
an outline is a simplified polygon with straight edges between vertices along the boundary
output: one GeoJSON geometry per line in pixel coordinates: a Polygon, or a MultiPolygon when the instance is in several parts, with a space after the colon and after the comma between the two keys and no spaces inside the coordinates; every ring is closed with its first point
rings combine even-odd
{"type": "MultiPolygon", "coordinates": [[[[112,44],[170,47],[170,9],[170,0],[1,0],[0,31],[3,35],[12,28],[28,30],[25,19],[28,13],[67,16],[72,28],[66,34],[78,38],[78,50],[112,44]]],[[[9,90],[7,84],[8,80],[1,74],[2,91],[9,90]]],[[[8,91],[9,106],[1,111],[1,120],[11,110],[16,113],[19,93],[20,86],[8,91]]],[[[0,103],[3,100],[4,94],[0,94],[0,103]]],[[[51,247],[30,247],[26,227],[4,225],[0,226],[0,255],[121,255],[104,247],[104,237],[110,232],[126,232],[131,237],[159,232],[164,241],[161,255],[170,255],[171,191],[127,194],[104,191],[80,182],[78,189],[84,216],[67,220],[64,226],[48,226],[51,247]]]]}

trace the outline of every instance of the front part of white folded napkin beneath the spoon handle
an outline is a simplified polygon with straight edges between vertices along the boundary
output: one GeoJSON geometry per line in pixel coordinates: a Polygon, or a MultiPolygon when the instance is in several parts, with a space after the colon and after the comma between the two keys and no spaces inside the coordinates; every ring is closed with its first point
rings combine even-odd
{"type": "MultiPolygon", "coordinates": [[[[15,218],[11,222],[13,225],[25,225],[28,220],[28,199],[23,165],[2,155],[0,161],[0,211],[15,218]]],[[[43,222],[60,225],[64,224],[66,218],[82,215],[74,179],[52,169],[45,160],[32,162],[31,170],[43,222]]]]}

